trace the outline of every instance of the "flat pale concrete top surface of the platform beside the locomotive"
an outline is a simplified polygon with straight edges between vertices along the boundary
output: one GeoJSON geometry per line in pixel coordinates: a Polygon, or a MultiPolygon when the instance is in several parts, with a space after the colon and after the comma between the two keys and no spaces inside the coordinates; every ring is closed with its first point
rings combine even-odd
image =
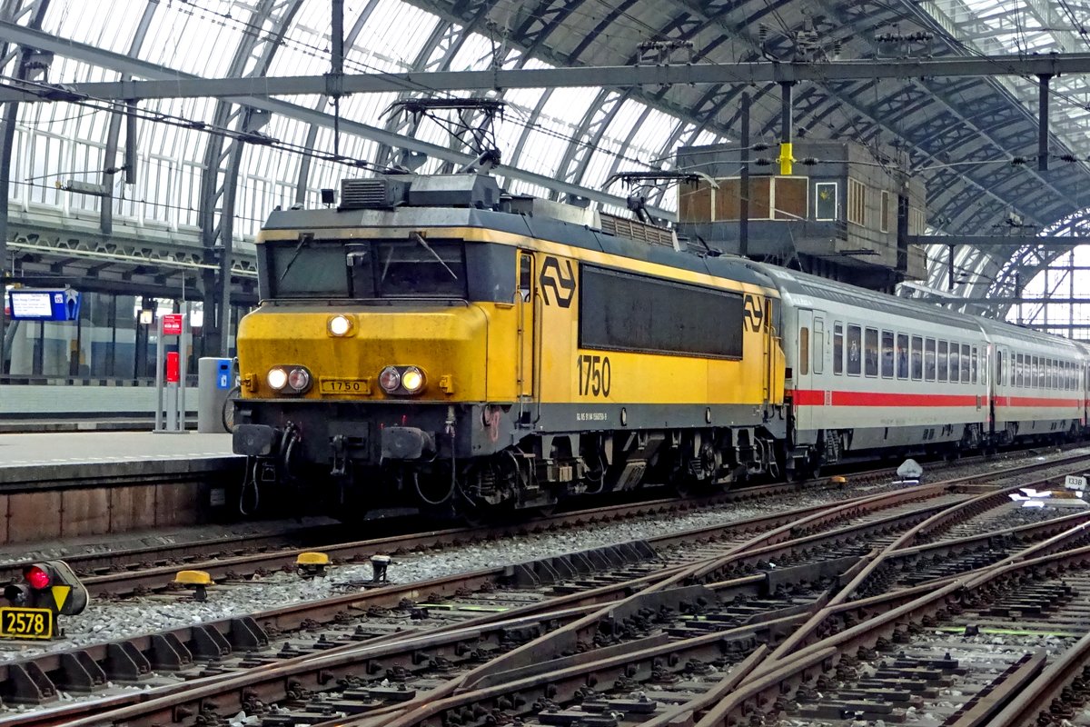
{"type": "Polygon", "coordinates": [[[234,457],[230,434],[49,432],[0,434],[0,470],[27,465],[234,457]]]}

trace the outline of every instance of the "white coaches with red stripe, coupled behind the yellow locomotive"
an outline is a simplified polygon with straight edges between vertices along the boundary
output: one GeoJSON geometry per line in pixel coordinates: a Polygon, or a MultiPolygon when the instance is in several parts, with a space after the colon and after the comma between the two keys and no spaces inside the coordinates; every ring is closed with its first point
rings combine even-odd
{"type": "Polygon", "coordinates": [[[953,451],[1082,425],[1087,358],[1067,339],[754,267],[783,303],[795,458],[953,451]]]}

